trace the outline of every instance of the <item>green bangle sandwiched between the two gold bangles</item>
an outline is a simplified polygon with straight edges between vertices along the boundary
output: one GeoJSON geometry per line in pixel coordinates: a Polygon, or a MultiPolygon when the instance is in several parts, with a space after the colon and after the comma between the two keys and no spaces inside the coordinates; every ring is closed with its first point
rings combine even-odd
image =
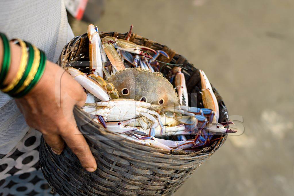
{"type": "Polygon", "coordinates": [[[23,85],[24,81],[26,80],[27,76],[29,75],[31,71],[31,67],[34,61],[34,48],[30,43],[26,41],[25,43],[26,43],[26,46],[29,48],[29,59],[26,65],[26,70],[24,71],[24,75],[19,80],[19,83],[17,83],[17,85],[11,91],[7,92],[7,94],[9,94],[12,97],[13,97],[13,94],[15,94],[15,92],[23,85]]]}

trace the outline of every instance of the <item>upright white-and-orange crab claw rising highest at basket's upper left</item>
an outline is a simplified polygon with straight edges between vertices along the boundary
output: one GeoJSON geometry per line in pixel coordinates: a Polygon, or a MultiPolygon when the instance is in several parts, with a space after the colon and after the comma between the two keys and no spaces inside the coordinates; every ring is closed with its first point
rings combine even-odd
{"type": "MultiPolygon", "coordinates": [[[[92,73],[103,77],[103,64],[101,59],[101,51],[99,46],[99,33],[97,26],[90,24],[88,26],[89,38],[89,56],[90,56],[90,69],[92,73]]],[[[100,40],[101,41],[101,40],[100,40]]]]}

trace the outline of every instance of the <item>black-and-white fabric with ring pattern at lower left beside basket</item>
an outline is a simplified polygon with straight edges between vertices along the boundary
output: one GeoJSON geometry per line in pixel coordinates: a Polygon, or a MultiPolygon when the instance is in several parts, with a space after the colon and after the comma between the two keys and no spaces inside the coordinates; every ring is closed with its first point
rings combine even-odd
{"type": "Polygon", "coordinates": [[[10,153],[0,154],[0,196],[52,195],[40,169],[40,138],[31,128],[10,153]]]}

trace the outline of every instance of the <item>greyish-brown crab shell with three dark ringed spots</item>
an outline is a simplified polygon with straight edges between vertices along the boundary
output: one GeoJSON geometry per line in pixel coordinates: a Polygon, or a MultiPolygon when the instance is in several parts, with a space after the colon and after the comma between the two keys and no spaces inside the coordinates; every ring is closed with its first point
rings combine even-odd
{"type": "Polygon", "coordinates": [[[127,68],[107,78],[106,82],[113,84],[120,98],[138,101],[145,98],[144,101],[151,104],[179,105],[179,98],[173,85],[160,72],[127,68]]]}

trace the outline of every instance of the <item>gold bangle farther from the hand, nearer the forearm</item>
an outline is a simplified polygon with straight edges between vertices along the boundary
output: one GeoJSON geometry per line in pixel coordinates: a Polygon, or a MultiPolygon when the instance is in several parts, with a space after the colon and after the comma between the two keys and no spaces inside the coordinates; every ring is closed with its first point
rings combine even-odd
{"type": "Polygon", "coordinates": [[[19,70],[17,71],[16,77],[12,80],[12,82],[5,88],[1,89],[1,91],[3,91],[4,93],[11,91],[19,83],[21,77],[24,75],[24,71],[26,70],[26,64],[28,61],[28,52],[26,49],[26,44],[21,39],[15,40],[17,40],[19,42],[19,45],[21,46],[21,59],[19,63],[19,70]]]}

